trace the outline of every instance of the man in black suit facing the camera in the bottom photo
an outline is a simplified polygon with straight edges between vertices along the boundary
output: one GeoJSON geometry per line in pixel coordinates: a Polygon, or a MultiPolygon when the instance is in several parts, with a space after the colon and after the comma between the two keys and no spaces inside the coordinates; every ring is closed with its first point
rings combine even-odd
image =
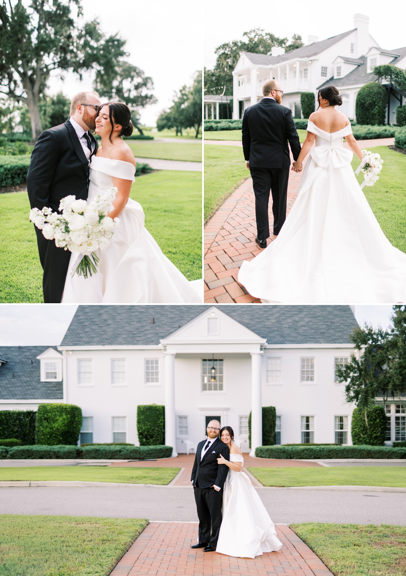
{"type": "Polygon", "coordinates": [[[219,439],[220,423],[211,420],[207,425],[207,438],[199,442],[192,469],[192,482],[199,517],[199,543],[191,548],[213,552],[217,546],[222,520],[223,486],[229,468],[218,464],[220,454],[230,460],[230,449],[219,439]]]}

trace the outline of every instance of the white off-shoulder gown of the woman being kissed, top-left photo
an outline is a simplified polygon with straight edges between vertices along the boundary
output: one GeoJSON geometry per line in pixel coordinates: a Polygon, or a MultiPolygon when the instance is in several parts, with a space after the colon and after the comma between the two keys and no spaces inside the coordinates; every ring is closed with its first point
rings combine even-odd
{"type": "MultiPolygon", "coordinates": [[[[113,186],[113,176],[134,179],[130,162],[94,156],[90,164],[88,203],[113,186]]],[[[104,250],[97,250],[99,274],[85,279],[72,268],[78,253],[72,253],[62,303],[79,304],[201,304],[201,281],[189,282],[162,253],[144,227],[141,204],[131,198],[119,215],[120,225],[104,250]]]]}

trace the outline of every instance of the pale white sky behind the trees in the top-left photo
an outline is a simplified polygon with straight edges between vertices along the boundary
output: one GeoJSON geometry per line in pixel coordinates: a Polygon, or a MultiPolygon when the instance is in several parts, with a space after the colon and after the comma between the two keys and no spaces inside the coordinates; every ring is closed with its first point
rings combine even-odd
{"type": "MultiPolygon", "coordinates": [[[[158,104],[141,112],[142,123],[154,126],[163,108],[170,106],[174,90],[191,85],[203,66],[202,3],[196,0],[82,0],[84,21],[100,18],[106,35],[120,33],[127,40],[128,62],[138,66],[154,82],[158,104]]],[[[75,12],[73,12],[75,14],[75,12]]],[[[92,74],[66,74],[64,81],[51,78],[50,94],[62,90],[68,98],[80,90],[92,90],[92,74]]]]}

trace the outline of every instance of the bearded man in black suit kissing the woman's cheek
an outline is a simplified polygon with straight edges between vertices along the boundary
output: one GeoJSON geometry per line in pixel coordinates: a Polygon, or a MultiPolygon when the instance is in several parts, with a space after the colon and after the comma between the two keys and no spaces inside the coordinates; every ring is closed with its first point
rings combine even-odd
{"type": "MultiPolygon", "coordinates": [[[[97,140],[90,134],[96,128],[100,107],[97,92],[79,92],[70,105],[70,118],[40,134],[31,155],[26,177],[31,208],[45,206],[59,211],[59,202],[74,195],[88,198],[89,165],[97,151],[97,140]]],[[[59,303],[69,267],[70,252],[57,248],[35,227],[38,252],[44,270],[44,302],[59,303]]]]}

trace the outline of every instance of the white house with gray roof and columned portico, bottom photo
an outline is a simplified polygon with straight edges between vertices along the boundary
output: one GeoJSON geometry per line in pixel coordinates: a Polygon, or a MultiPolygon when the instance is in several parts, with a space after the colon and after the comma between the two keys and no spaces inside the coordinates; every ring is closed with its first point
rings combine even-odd
{"type": "MultiPolygon", "coordinates": [[[[137,406],[165,404],[175,456],[213,418],[248,452],[251,411],[253,451],[261,407],[275,406],[278,444],[351,444],[354,407],[335,366],[356,326],[350,306],[79,306],[60,346],[0,348],[0,409],[77,404],[81,442],[138,444],[137,406]]],[[[388,441],[405,428],[403,404],[392,404],[388,441]]]]}

